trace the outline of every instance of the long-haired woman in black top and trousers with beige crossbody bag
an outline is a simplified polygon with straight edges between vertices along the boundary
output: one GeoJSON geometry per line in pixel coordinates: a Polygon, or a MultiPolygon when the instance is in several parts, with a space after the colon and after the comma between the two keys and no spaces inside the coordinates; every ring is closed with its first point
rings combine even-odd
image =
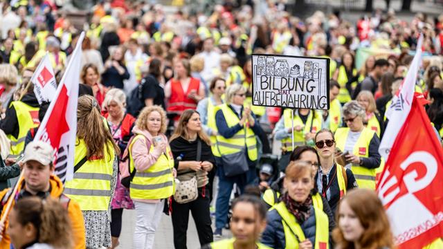
{"type": "Polygon", "coordinates": [[[189,211],[195,221],[200,245],[213,242],[210,226],[210,190],[208,172],[215,166],[215,158],[210,148],[210,139],[201,129],[200,114],[186,110],[181,114],[179,124],[170,139],[174,167],[179,181],[197,181],[197,198],[184,202],[172,199],[172,225],[174,228],[175,248],[186,248],[189,211]]]}

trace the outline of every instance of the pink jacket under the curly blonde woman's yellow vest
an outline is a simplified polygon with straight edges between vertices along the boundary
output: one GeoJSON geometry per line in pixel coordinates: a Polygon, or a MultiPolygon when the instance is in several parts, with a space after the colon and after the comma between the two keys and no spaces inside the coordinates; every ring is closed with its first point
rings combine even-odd
{"type": "MultiPolygon", "coordinates": [[[[156,161],[159,159],[159,156],[163,153],[158,147],[154,147],[152,150],[152,153],[150,153],[150,146],[154,144],[152,141],[152,135],[146,130],[141,130],[138,127],[134,126],[132,129],[132,133],[135,135],[143,135],[145,136],[145,139],[147,139],[147,142],[143,139],[137,139],[134,142],[134,145],[132,145],[132,158],[134,159],[134,167],[138,172],[143,172],[146,169],[149,169],[156,161]],[[149,145],[147,147],[146,145],[149,145]]],[[[163,142],[166,142],[167,146],[169,147],[168,138],[164,134],[159,134],[159,136],[162,137],[163,142]]],[[[159,200],[136,200],[136,201],[142,201],[146,203],[156,203],[159,202],[159,200]]]]}

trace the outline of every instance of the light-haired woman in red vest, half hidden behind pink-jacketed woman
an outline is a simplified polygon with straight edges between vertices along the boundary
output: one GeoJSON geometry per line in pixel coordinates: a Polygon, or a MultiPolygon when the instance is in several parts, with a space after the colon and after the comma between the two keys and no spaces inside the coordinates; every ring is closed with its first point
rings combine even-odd
{"type": "MultiPolygon", "coordinates": [[[[120,148],[119,169],[127,166],[123,163],[123,151],[127,147],[129,138],[132,137],[132,128],[136,119],[126,112],[126,95],[120,89],[111,89],[107,92],[103,101],[103,109],[106,110],[105,118],[107,120],[109,131],[112,138],[120,148]]],[[[126,167],[127,168],[127,167],[126,167]]],[[[118,245],[118,237],[122,229],[123,209],[134,209],[134,203],[129,198],[129,190],[120,183],[122,172],[117,175],[116,191],[111,201],[111,237],[112,248],[118,245]]]]}

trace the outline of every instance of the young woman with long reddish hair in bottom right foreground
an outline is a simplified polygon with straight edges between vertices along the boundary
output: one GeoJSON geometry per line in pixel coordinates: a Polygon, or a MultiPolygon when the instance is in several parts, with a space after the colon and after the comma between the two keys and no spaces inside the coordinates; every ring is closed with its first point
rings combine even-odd
{"type": "Polygon", "coordinates": [[[336,220],[336,248],[395,248],[388,216],[374,190],[351,190],[338,204],[336,220]]]}

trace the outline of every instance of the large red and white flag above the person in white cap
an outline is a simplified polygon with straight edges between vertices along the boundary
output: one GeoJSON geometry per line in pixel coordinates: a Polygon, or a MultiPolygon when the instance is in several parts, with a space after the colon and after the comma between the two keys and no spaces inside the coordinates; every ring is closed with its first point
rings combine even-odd
{"type": "Polygon", "coordinates": [[[80,84],[80,65],[82,60],[82,42],[84,32],[78,39],[66,71],[55,93],[55,98],[48,107],[36,140],[43,140],[57,151],[55,174],[62,181],[73,178],[75,136],[77,133],[78,86],[80,84]]]}

